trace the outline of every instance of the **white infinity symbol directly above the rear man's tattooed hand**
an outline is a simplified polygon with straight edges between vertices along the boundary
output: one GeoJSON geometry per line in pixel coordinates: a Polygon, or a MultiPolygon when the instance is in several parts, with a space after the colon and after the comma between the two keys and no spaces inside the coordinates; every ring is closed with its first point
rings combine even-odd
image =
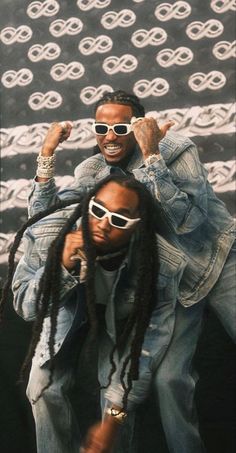
{"type": "Polygon", "coordinates": [[[165,79],[157,77],[151,81],[142,79],[134,84],[136,96],[146,98],[148,96],[163,96],[169,91],[169,84],[165,79]]]}

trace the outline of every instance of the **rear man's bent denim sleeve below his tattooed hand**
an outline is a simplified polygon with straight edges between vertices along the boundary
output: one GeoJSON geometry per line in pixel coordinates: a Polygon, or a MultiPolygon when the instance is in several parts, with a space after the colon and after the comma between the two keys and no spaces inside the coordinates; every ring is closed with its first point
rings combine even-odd
{"type": "Polygon", "coordinates": [[[177,234],[195,230],[207,216],[207,171],[195,145],[189,146],[167,167],[165,160],[133,171],[160,203],[177,234]]]}

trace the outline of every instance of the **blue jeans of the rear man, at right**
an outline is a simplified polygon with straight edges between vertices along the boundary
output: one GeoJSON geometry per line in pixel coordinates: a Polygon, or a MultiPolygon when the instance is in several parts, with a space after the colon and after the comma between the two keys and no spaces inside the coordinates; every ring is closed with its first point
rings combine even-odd
{"type": "Polygon", "coordinates": [[[192,368],[205,304],[214,310],[222,325],[236,340],[236,245],[223,271],[201,302],[189,308],[176,307],[176,323],[169,349],[154,377],[163,429],[170,453],[203,453],[194,392],[197,375],[192,368]]]}

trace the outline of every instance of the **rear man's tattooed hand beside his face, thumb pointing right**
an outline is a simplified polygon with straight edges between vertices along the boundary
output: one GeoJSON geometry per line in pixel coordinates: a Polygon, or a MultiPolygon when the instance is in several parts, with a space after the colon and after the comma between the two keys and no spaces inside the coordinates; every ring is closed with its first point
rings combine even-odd
{"type": "MultiPolygon", "coordinates": [[[[132,120],[131,120],[132,122],[132,120]]],[[[151,154],[159,154],[159,142],[165,137],[168,129],[173,126],[173,121],[168,121],[158,126],[154,118],[140,118],[133,121],[133,132],[138,145],[143,153],[144,159],[151,154]]]]}

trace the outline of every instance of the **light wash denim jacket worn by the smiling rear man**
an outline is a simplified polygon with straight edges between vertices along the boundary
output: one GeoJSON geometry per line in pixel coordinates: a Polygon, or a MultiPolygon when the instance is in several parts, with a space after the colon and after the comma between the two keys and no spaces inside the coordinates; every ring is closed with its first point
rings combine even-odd
{"type": "MultiPolygon", "coordinates": [[[[141,151],[134,151],[127,171],[144,183],[160,204],[170,231],[166,238],[188,256],[180,282],[180,302],[190,306],[202,300],[214,286],[235,240],[235,222],[207,181],[195,144],[169,131],[160,142],[162,159],[145,166],[141,151]]],[[[96,182],[115,172],[103,156],[92,156],[75,169],[75,183],[61,191],[70,198],[89,190],[96,182]]],[[[57,199],[54,179],[34,181],[29,196],[30,215],[57,199]]]]}

